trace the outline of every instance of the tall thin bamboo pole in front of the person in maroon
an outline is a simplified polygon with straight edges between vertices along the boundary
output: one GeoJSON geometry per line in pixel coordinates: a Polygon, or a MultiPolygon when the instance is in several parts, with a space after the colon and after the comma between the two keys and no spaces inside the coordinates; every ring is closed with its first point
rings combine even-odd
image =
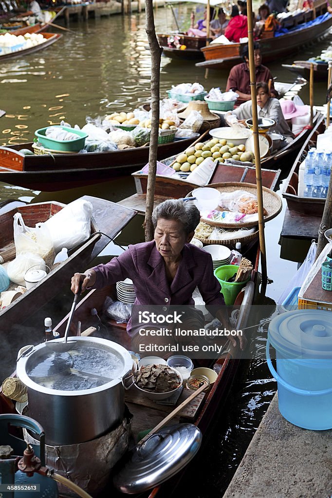
{"type": "Polygon", "coordinates": [[[262,170],[261,170],[259,134],[258,134],[254,32],[253,32],[253,22],[252,22],[252,0],[247,0],[247,10],[248,10],[247,18],[248,18],[248,45],[249,45],[249,73],[250,73],[253,133],[254,133],[255,167],[256,167],[259,245],[261,249],[262,293],[264,294],[267,285],[267,266],[266,266],[266,247],[265,247],[265,235],[264,235],[262,170]]]}

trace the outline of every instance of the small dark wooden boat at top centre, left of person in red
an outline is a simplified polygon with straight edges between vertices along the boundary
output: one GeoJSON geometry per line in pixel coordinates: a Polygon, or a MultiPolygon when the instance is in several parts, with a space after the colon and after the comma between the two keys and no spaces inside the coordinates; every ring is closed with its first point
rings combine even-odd
{"type": "Polygon", "coordinates": [[[157,38],[160,46],[163,47],[163,54],[170,59],[195,61],[204,59],[204,55],[200,49],[206,46],[206,37],[196,38],[194,36],[188,36],[185,33],[157,33],[157,38]],[[174,36],[179,43],[178,46],[175,46],[174,43],[170,41],[174,39],[174,36]]]}

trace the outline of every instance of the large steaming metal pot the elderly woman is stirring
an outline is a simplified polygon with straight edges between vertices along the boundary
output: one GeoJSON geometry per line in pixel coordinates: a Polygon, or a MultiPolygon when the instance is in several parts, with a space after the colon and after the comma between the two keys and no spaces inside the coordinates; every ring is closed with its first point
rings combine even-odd
{"type": "MultiPolygon", "coordinates": [[[[128,351],[117,343],[93,337],[71,339],[77,341],[76,346],[73,351],[66,352],[65,355],[74,359],[72,365],[74,369],[93,372],[93,365],[99,368],[100,363],[95,361],[95,352],[99,352],[101,356],[106,357],[106,362],[110,357],[110,363],[112,363],[111,358],[115,357],[114,363],[117,365],[117,371],[110,381],[100,380],[102,385],[86,389],[75,385],[75,389],[68,390],[68,386],[72,385],[68,383],[72,380],[72,377],[68,380],[68,375],[71,373],[68,372],[67,377],[66,375],[59,377],[67,366],[59,362],[60,374],[57,373],[54,367],[57,366],[58,361],[57,359],[54,361],[53,358],[53,364],[49,370],[49,376],[46,377],[47,382],[45,382],[45,376],[38,376],[40,374],[36,375],[34,372],[38,372],[42,358],[45,358],[49,352],[52,354],[51,343],[63,341],[63,339],[40,344],[18,360],[16,372],[27,386],[30,416],[42,425],[46,434],[46,443],[53,446],[89,441],[123,419],[124,379],[130,376],[133,365],[128,351]],[[85,366],[83,369],[82,363],[78,363],[77,367],[75,362],[78,356],[84,356],[86,351],[88,354],[90,352],[91,361],[89,357],[85,365],[88,362],[91,368],[88,369],[85,366]]],[[[102,375],[111,378],[112,368],[112,365],[106,365],[102,375]]]]}

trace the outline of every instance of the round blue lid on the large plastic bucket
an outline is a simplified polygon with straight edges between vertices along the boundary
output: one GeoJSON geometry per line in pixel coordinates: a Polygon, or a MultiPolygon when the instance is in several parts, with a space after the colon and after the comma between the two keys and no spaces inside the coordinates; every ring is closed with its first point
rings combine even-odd
{"type": "Polygon", "coordinates": [[[273,318],[268,338],[289,358],[332,359],[332,313],[325,310],[295,310],[273,318]]]}

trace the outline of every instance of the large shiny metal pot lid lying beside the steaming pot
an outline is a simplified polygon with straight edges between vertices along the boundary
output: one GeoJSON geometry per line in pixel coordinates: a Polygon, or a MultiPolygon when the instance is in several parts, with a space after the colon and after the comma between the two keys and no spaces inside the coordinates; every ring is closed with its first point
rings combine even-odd
{"type": "Polygon", "coordinates": [[[152,434],[128,454],[127,462],[114,479],[114,486],[129,495],[164,483],[195,456],[202,433],[193,424],[176,424],[152,434]]]}

